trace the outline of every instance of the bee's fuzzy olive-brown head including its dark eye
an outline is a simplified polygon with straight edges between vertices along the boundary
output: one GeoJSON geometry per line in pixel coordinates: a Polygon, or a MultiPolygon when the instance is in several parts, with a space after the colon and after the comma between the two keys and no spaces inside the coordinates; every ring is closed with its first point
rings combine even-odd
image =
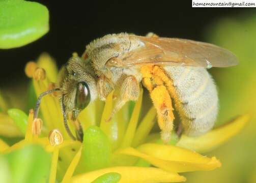
{"type": "Polygon", "coordinates": [[[86,60],[70,58],[61,71],[59,85],[64,97],[66,112],[84,109],[97,98],[96,77],[86,60]]]}

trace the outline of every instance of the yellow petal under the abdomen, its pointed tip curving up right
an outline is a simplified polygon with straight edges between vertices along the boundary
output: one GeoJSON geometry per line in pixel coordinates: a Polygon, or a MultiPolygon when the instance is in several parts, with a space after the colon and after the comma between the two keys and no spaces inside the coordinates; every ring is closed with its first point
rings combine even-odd
{"type": "Polygon", "coordinates": [[[241,131],[249,119],[249,116],[242,115],[231,123],[220,126],[200,137],[187,137],[182,135],[177,146],[189,148],[196,152],[205,153],[224,143],[241,131]]]}

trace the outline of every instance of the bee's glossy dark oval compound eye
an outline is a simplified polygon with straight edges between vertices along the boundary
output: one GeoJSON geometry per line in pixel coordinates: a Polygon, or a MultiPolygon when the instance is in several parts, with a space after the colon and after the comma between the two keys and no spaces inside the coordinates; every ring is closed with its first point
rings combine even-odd
{"type": "Polygon", "coordinates": [[[75,108],[84,109],[91,100],[91,94],[89,86],[86,82],[78,82],[76,86],[75,108]]]}

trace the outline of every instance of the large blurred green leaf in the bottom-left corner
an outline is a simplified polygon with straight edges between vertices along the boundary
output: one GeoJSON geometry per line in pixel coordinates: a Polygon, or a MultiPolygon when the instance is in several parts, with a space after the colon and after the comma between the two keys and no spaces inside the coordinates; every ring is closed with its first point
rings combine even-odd
{"type": "Polygon", "coordinates": [[[50,155],[39,145],[27,145],[4,158],[9,164],[11,182],[46,182],[49,176],[50,155]]]}

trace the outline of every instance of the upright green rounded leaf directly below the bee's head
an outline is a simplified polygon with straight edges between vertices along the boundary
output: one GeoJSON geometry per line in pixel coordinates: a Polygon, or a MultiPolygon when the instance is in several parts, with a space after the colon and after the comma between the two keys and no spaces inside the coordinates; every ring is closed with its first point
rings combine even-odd
{"type": "Polygon", "coordinates": [[[111,146],[107,136],[97,126],[89,127],[83,136],[81,163],[85,171],[110,166],[111,146]]]}

